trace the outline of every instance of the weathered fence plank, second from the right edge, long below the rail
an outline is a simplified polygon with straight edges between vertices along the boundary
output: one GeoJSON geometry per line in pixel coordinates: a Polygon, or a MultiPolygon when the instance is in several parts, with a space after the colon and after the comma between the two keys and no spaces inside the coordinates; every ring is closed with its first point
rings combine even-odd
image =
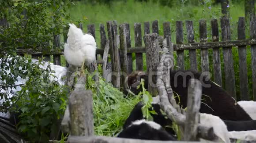
{"type": "MultiPolygon", "coordinates": [[[[237,25],[238,39],[245,39],[245,18],[240,17],[237,25]]],[[[247,75],[247,60],[246,46],[238,48],[239,55],[239,79],[240,79],[240,97],[241,100],[248,100],[248,75],[247,75]]]]}

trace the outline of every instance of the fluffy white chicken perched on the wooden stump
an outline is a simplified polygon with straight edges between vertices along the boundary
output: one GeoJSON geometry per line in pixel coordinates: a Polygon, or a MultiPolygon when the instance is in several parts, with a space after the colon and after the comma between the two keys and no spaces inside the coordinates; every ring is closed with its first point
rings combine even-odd
{"type": "Polygon", "coordinates": [[[87,66],[95,60],[96,42],[90,34],[83,34],[74,24],[69,24],[67,43],[64,44],[64,57],[75,67],[87,66]]]}

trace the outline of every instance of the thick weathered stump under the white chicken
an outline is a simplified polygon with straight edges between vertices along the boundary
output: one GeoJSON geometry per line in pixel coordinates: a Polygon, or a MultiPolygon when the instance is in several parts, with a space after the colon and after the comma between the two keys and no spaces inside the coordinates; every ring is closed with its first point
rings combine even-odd
{"type": "Polygon", "coordinates": [[[85,82],[85,76],[81,76],[69,97],[71,136],[94,135],[92,92],[85,90],[85,82]]]}

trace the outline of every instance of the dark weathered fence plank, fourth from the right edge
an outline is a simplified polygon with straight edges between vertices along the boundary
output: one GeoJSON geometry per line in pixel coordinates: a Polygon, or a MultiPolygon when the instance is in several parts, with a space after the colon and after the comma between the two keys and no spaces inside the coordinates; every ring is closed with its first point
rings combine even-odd
{"type": "MultiPolygon", "coordinates": [[[[218,21],[217,19],[211,20],[211,32],[212,32],[212,41],[218,42],[218,21]]],[[[222,74],[221,74],[221,60],[219,48],[213,48],[213,70],[214,70],[214,80],[219,86],[222,86],[222,74]]]]}

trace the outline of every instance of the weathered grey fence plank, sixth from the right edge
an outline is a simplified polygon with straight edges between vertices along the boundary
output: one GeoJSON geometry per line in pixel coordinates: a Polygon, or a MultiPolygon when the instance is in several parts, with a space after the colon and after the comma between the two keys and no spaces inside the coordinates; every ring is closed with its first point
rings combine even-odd
{"type": "MultiPolygon", "coordinates": [[[[186,21],[188,43],[195,43],[193,21],[186,21]]],[[[197,71],[196,50],[189,50],[190,69],[197,71]]]]}

